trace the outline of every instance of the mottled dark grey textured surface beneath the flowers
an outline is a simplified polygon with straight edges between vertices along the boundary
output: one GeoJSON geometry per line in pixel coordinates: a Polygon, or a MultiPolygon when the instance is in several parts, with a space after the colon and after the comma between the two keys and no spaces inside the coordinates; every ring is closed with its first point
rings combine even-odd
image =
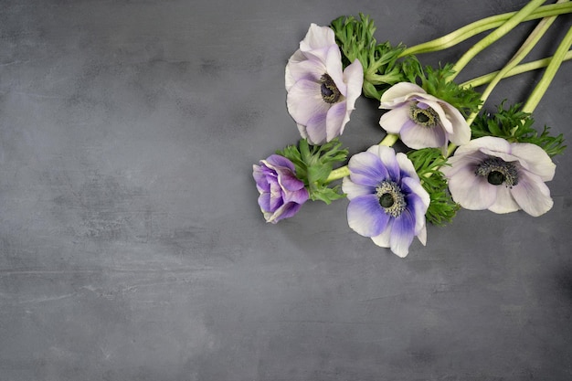
{"type": "MultiPolygon", "coordinates": [[[[572,379],[569,153],[545,216],[461,211],[406,259],[347,228],[345,200],[265,224],[251,178],[298,139],[283,71],[310,23],[363,12],[411,46],[523,4],[1,1],[0,379],[572,379]]],[[[569,65],[535,111],[568,141],[569,65]]],[[[379,112],[357,102],[352,153],[379,112]]]]}

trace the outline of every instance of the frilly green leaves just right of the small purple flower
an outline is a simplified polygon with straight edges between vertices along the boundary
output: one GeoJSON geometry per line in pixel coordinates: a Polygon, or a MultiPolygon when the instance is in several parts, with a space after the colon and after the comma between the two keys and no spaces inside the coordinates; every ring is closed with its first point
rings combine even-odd
{"type": "Polygon", "coordinates": [[[289,145],[276,153],[294,164],[296,177],[308,189],[310,199],[330,204],[345,197],[339,185],[329,186],[327,182],[334,164],[342,163],[347,158],[348,150],[341,149],[341,146],[337,138],[322,145],[312,145],[306,139],[301,139],[298,145],[289,145]]]}

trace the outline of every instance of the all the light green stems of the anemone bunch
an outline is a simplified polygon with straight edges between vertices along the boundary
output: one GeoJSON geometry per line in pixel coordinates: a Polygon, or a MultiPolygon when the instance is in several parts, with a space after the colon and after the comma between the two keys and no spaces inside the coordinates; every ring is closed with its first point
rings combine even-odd
{"type": "MultiPolygon", "coordinates": [[[[514,53],[503,69],[494,71],[492,73],[484,74],[475,79],[467,80],[461,83],[463,88],[476,88],[487,85],[481,92],[481,106],[478,111],[474,111],[467,117],[469,125],[477,117],[478,112],[481,110],[482,105],[487,101],[491,95],[494,87],[501,81],[508,77],[522,74],[527,71],[535,69],[545,69],[542,78],[538,81],[535,89],[532,90],[527,101],[521,108],[525,113],[532,113],[539,101],[542,99],[549,84],[555,78],[557,70],[563,61],[572,58],[572,26],[567,30],[565,37],[561,40],[556,51],[552,57],[538,59],[535,61],[521,63],[523,59],[535,47],[538,41],[546,34],[546,31],[555,22],[556,17],[560,15],[572,13],[572,2],[568,0],[558,0],[556,4],[543,5],[546,0],[531,0],[528,4],[517,12],[505,13],[497,16],[483,18],[482,20],[463,26],[450,34],[433,39],[431,41],[404,49],[400,56],[408,57],[423,53],[437,52],[446,48],[451,48],[468,38],[474,37],[482,32],[492,30],[489,34],[479,40],[471,48],[469,48],[453,66],[454,74],[450,75],[448,80],[453,81],[455,77],[461,72],[472,58],[479,54],[483,49],[491,46],[494,42],[501,37],[508,34],[515,26],[520,25],[525,21],[540,20],[535,26],[534,30],[524,40],[522,46],[514,53]]],[[[380,145],[392,146],[397,143],[399,136],[397,134],[388,133],[387,136],[379,143],[380,145]]],[[[447,155],[452,154],[457,147],[450,143],[447,155]]],[[[334,169],[327,178],[327,182],[341,179],[350,175],[347,165],[334,169]]]]}

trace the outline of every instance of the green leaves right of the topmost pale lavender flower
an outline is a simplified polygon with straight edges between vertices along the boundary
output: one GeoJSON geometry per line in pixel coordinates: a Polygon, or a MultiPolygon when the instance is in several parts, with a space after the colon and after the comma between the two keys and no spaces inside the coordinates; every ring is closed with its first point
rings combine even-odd
{"type": "Polygon", "coordinates": [[[331,25],[336,43],[344,54],[344,67],[359,59],[364,69],[364,95],[379,101],[383,92],[398,82],[412,82],[421,72],[415,56],[400,58],[406,49],[402,44],[378,44],[376,26],[369,16],[340,16],[331,25]]]}

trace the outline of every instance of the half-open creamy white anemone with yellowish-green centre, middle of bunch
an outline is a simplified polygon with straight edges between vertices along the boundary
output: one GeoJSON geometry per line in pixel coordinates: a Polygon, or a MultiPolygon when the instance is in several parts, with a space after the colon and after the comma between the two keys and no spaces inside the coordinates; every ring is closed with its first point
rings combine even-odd
{"type": "Polygon", "coordinates": [[[389,88],[379,108],[390,110],[381,116],[379,125],[399,134],[410,148],[441,148],[446,153],[449,142],[461,145],[471,140],[471,128],[461,111],[415,83],[399,82],[389,88]]]}

